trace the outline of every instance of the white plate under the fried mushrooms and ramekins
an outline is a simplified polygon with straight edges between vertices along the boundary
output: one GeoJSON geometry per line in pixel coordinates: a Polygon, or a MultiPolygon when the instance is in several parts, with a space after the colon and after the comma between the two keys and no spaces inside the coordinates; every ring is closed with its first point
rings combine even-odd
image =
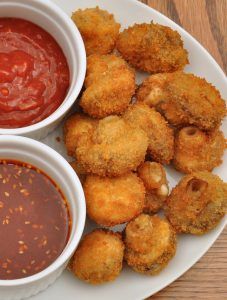
{"type": "MultiPolygon", "coordinates": [[[[184,40],[184,45],[189,52],[190,65],[186,67],[186,71],[205,77],[220,90],[222,97],[227,99],[227,80],[218,64],[194,38],[157,11],[135,0],[54,0],[54,2],[69,15],[78,8],[99,5],[101,8],[107,9],[109,12],[113,13],[116,20],[122,24],[122,27],[127,27],[135,22],[142,23],[153,20],[154,22],[178,30],[184,40]]],[[[144,76],[145,74],[139,74],[137,80],[141,81],[144,76]]],[[[226,121],[223,123],[222,128],[227,131],[226,121]]],[[[62,139],[60,143],[57,142],[57,136],[62,136],[61,128],[58,128],[43,142],[56,149],[67,158],[62,139]]],[[[215,169],[215,173],[227,181],[226,155],[223,164],[215,169]]],[[[168,179],[171,187],[176,184],[180,176],[179,173],[168,168],[168,179]]],[[[72,274],[65,271],[54,285],[32,299],[144,299],[163,289],[193,266],[193,264],[211,247],[213,242],[222,232],[226,223],[227,218],[223,219],[216,229],[202,237],[192,235],[178,236],[176,256],[170,262],[168,267],[158,276],[148,277],[140,275],[125,267],[116,281],[101,286],[92,286],[77,280],[72,274]]],[[[90,231],[92,226],[94,226],[94,224],[87,224],[86,231],[90,231]]]]}

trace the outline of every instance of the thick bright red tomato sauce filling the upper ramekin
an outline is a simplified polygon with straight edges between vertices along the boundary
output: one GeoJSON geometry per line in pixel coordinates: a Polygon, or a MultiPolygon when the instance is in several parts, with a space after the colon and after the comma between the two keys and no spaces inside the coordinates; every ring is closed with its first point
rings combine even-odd
{"type": "Polygon", "coordinates": [[[0,18],[0,127],[45,119],[68,88],[69,67],[55,39],[29,21],[0,18]]]}

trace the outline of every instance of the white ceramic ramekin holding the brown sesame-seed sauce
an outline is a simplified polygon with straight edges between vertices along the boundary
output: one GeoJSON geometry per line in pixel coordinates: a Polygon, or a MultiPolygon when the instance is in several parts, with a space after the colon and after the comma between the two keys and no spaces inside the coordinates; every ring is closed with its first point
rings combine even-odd
{"type": "Polygon", "coordinates": [[[0,280],[0,299],[19,300],[44,290],[66,267],[83,233],[86,205],[80,181],[68,162],[55,150],[20,136],[0,136],[0,158],[30,163],[48,174],[61,188],[71,214],[71,233],[62,254],[45,270],[22,279],[0,280]]]}

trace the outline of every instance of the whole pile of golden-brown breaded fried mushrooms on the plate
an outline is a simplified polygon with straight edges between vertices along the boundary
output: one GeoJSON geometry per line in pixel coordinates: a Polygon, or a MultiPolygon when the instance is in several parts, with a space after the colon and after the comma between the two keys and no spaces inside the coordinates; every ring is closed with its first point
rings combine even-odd
{"type": "Polygon", "coordinates": [[[135,24],[119,33],[113,15],[98,7],[72,19],[88,58],[83,113],[66,121],[65,145],[90,219],[104,227],[128,223],[123,233],[87,234],[71,270],[103,283],[119,275],[124,259],[137,272],[157,274],[176,252],[176,233],[204,234],[226,213],[227,184],[210,173],[226,148],[219,129],[225,102],[205,79],[182,71],[187,51],[171,28],[135,24]],[[133,67],[151,74],[139,87],[133,67]],[[171,162],[187,175],[169,195],[162,164],[171,162]],[[166,219],[155,215],[160,209],[166,219]]]}

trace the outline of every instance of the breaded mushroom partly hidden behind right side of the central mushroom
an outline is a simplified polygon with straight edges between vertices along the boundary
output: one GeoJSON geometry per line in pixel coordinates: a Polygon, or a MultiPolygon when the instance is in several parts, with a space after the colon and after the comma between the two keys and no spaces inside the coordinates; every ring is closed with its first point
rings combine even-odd
{"type": "Polygon", "coordinates": [[[149,138],[148,153],[153,160],[162,164],[170,163],[174,149],[173,130],[160,113],[144,103],[136,103],[129,107],[124,119],[146,132],[149,138]]]}

